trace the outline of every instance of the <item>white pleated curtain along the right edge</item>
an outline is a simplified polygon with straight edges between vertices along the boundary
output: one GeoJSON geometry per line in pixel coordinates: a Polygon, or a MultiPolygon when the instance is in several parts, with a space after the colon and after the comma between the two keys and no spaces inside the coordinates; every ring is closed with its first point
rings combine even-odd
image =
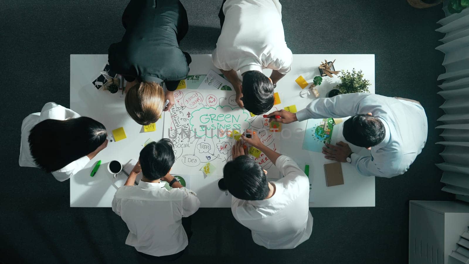
{"type": "Polygon", "coordinates": [[[446,36],[436,48],[446,54],[446,73],[438,77],[444,80],[438,93],[446,100],[440,106],[445,115],[438,119],[444,124],[437,126],[444,129],[445,141],[437,144],[445,146],[440,153],[445,162],[436,165],[443,170],[441,182],[446,186],[442,190],[469,202],[469,8],[459,14],[445,12],[437,31],[446,36]]]}

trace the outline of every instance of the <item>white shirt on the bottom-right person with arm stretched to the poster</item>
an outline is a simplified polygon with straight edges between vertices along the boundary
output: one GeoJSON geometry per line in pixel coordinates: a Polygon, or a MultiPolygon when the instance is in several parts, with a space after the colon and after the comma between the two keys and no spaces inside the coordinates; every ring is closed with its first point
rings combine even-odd
{"type": "Polygon", "coordinates": [[[269,249],[295,248],[310,238],[313,217],[309,210],[310,182],[304,171],[288,156],[275,166],[285,176],[276,182],[267,200],[245,201],[233,196],[234,218],[251,230],[252,240],[269,249]]]}

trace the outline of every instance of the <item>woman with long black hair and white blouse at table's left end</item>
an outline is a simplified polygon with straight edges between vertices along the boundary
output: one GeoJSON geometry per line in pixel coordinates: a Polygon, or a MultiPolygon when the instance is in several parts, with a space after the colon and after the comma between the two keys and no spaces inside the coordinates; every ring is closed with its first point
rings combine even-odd
{"type": "Polygon", "coordinates": [[[65,181],[106,148],[106,127],[54,102],[23,119],[19,165],[39,167],[65,181]]]}

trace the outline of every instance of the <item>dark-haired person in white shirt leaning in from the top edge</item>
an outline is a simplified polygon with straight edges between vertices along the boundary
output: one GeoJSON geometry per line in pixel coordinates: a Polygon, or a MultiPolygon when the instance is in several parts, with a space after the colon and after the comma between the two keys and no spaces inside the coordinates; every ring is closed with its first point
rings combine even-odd
{"type": "Polygon", "coordinates": [[[213,64],[233,85],[237,104],[255,115],[272,109],[273,89],[291,69],[281,8],[279,0],[225,0],[219,13],[222,28],[213,64]],[[270,78],[263,69],[272,69],[270,78]]]}

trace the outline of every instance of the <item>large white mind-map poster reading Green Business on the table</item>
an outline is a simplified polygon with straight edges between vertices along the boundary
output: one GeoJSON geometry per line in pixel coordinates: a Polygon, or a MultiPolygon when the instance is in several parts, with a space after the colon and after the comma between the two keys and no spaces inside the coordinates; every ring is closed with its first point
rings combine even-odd
{"type": "MultiPolygon", "coordinates": [[[[193,174],[210,162],[215,167],[212,175],[223,176],[223,167],[231,160],[231,148],[246,129],[259,132],[259,138],[268,148],[281,153],[280,133],[270,132],[268,118],[250,116],[238,107],[234,91],[189,90],[174,91],[175,105],[164,112],[163,137],[172,140],[176,161],[174,173],[193,174]]],[[[273,107],[270,111],[279,110],[273,107]]],[[[279,178],[280,171],[261,153],[255,161],[279,178]]]]}

